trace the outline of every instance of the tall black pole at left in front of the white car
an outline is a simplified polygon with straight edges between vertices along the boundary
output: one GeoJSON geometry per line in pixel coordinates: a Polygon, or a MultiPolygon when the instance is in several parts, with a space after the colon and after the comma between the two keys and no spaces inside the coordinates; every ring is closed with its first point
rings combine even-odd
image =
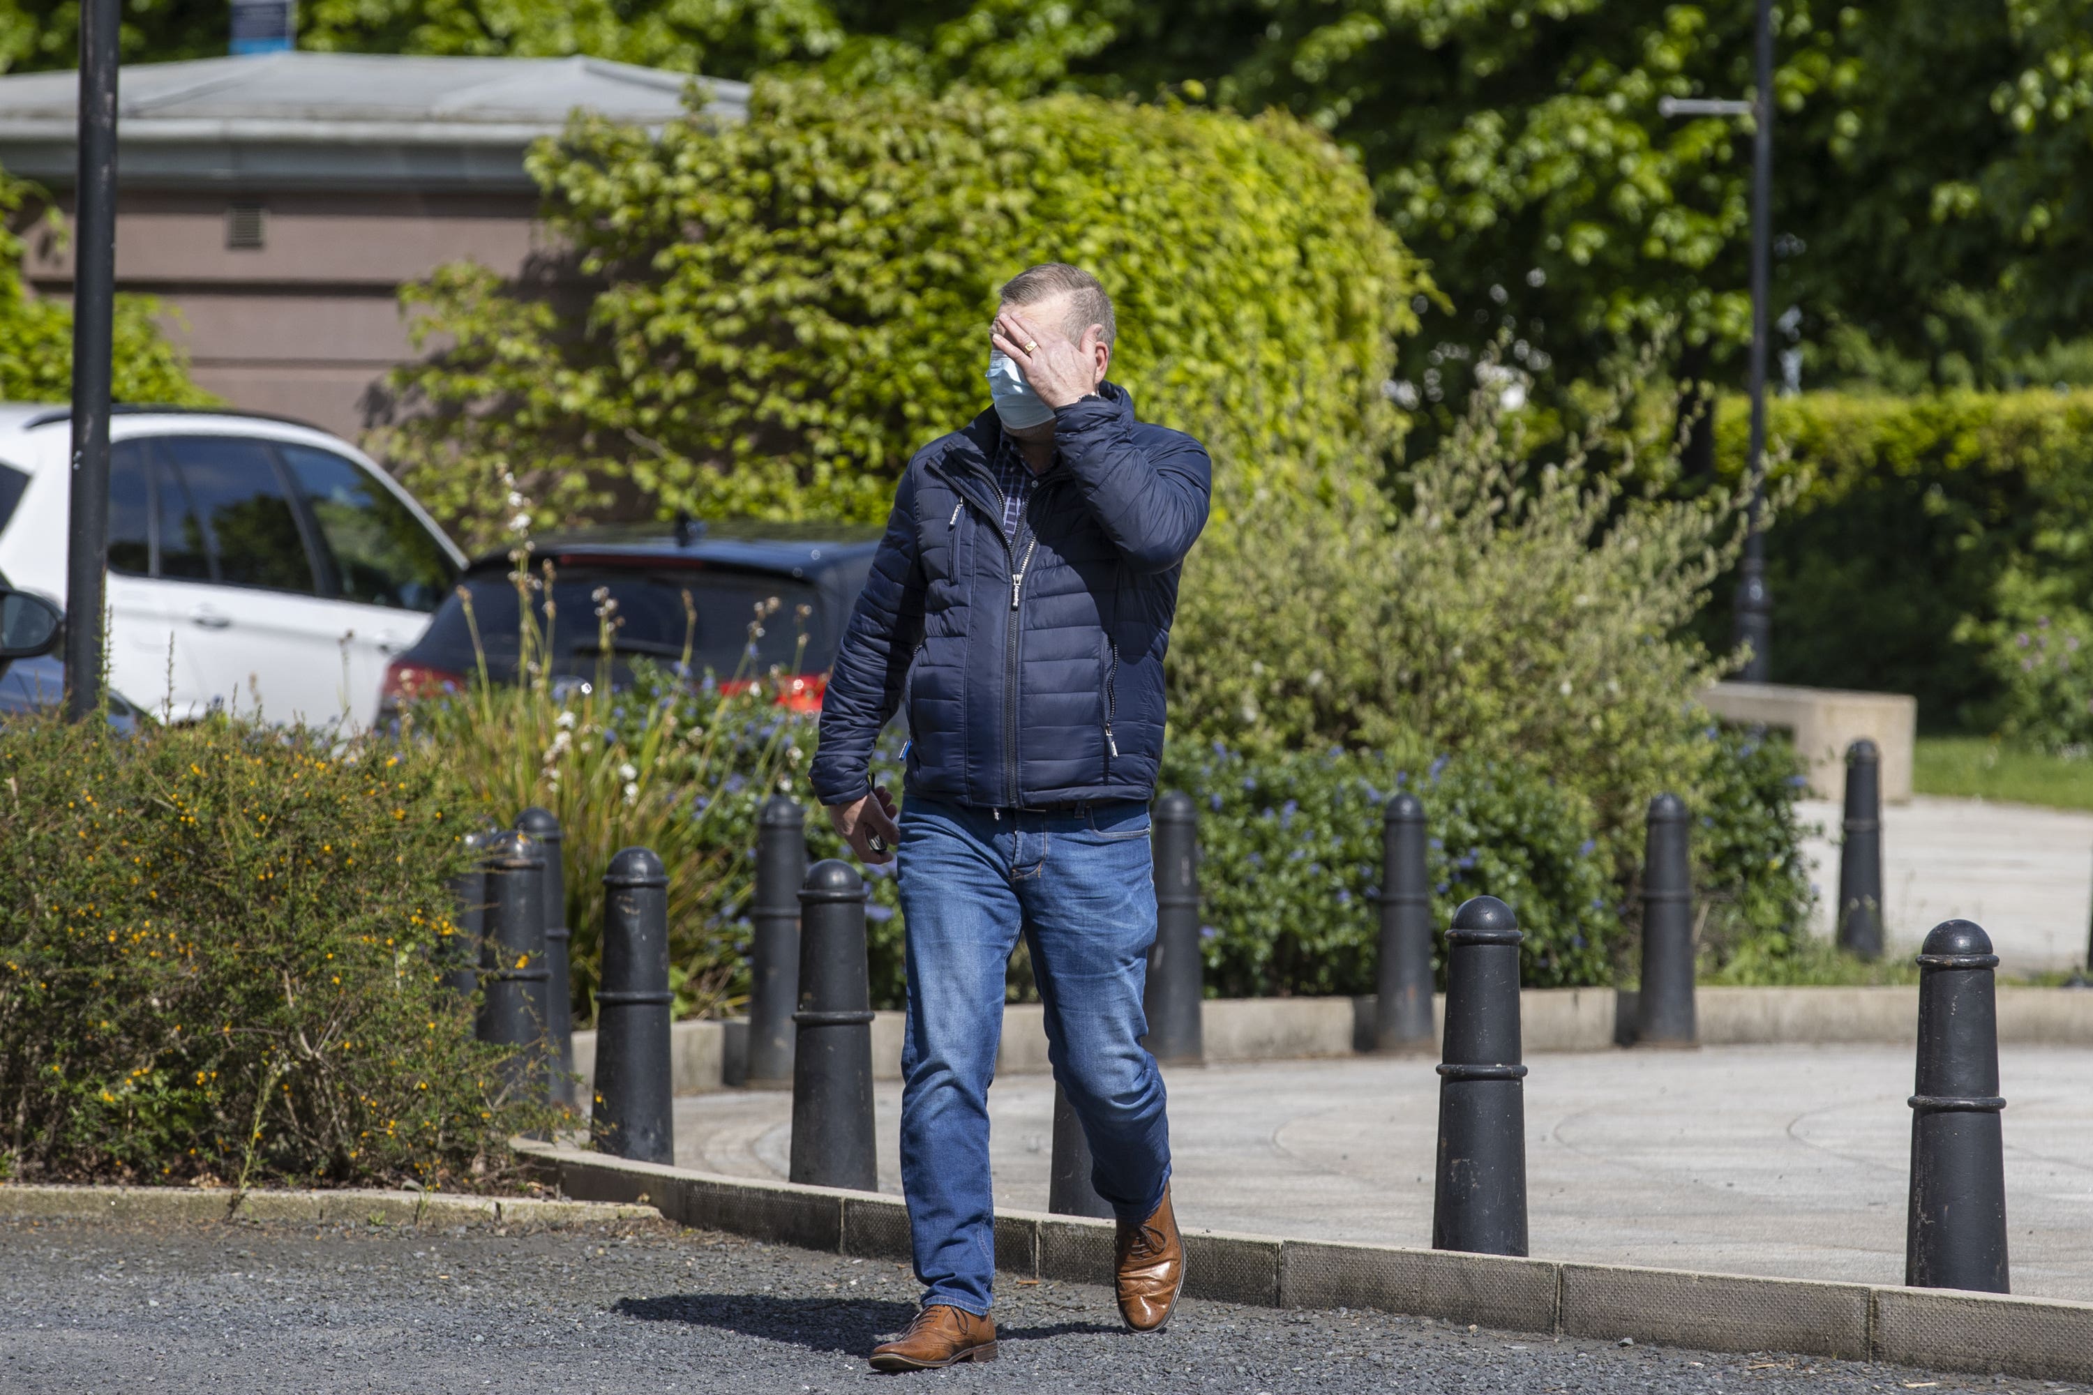
{"type": "Polygon", "coordinates": [[[109,376],[117,293],[119,0],[80,4],[80,176],[73,184],[73,473],[65,538],[65,717],[103,707],[109,569],[109,376]]]}

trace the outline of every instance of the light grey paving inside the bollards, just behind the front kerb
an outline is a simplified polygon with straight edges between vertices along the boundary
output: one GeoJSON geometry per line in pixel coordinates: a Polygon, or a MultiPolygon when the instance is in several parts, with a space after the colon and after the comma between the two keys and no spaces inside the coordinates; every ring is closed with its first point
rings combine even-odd
{"type": "MultiPolygon", "coordinates": [[[[1534,1056],[1526,1081],[1532,1253],[1666,1270],[1898,1284],[1911,1054],[1733,1046],[1534,1056]]],[[[2093,1301],[2093,1050],[2001,1050],[2013,1293],[2093,1301]]],[[[1166,1071],[1187,1226],[1427,1244],[1430,1060],[1166,1071]]],[[[900,1090],[877,1090],[879,1182],[900,1190],[900,1090]]],[[[990,1094],[996,1205],[1046,1205],[1053,1083],[990,1094]]],[[[783,1177],[785,1094],[676,1100],[676,1161],[783,1177]]]]}

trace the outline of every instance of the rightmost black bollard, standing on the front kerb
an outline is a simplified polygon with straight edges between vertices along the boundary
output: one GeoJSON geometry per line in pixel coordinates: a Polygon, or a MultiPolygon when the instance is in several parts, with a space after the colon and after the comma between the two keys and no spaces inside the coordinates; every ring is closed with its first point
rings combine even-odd
{"type": "Polygon", "coordinates": [[[1919,1069],[1911,1096],[1905,1284],[2011,1293],[1990,937],[1942,920],[1919,952],[1919,1069]]]}

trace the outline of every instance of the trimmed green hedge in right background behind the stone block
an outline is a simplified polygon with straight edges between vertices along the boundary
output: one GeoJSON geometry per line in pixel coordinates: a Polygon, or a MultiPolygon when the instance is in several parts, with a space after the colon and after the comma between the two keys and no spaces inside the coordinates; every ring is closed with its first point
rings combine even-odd
{"type": "MultiPolygon", "coordinates": [[[[1725,477],[1746,431],[1725,402],[1725,477]]],[[[2001,640],[2093,611],[2093,391],[1804,393],[1769,404],[1769,437],[1800,483],[1766,533],[1773,678],[1911,692],[1928,730],[1997,730],[2001,640]]]]}

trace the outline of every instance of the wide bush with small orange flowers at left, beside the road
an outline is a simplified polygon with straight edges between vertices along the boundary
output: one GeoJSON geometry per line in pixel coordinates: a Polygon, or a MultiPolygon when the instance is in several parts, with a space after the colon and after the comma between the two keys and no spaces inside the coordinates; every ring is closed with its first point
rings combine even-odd
{"type": "Polygon", "coordinates": [[[0,1175],[513,1180],[548,1113],[431,960],[465,822],[377,742],[0,726],[0,1175]]]}

